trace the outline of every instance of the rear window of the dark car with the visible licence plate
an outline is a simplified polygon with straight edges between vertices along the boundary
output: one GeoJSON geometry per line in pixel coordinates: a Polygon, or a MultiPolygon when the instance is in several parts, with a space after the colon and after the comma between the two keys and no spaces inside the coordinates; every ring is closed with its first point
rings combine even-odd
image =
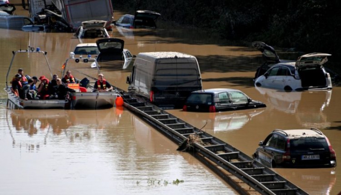
{"type": "Polygon", "coordinates": [[[290,140],[290,151],[292,152],[312,152],[314,150],[328,150],[328,143],[325,138],[307,137],[290,140]]]}

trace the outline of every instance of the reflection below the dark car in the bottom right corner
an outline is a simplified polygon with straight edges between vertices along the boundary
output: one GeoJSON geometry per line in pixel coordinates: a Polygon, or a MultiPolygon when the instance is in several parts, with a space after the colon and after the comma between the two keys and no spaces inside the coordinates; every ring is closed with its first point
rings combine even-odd
{"type": "Polygon", "coordinates": [[[293,183],[299,183],[300,187],[312,195],[330,195],[336,183],[336,169],[275,169],[281,176],[293,183]]]}

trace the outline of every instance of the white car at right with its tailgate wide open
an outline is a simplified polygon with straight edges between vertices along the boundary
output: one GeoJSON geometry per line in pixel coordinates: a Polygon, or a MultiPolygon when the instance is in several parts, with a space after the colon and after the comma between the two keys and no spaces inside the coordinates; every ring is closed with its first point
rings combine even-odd
{"type": "Polygon", "coordinates": [[[286,91],[332,89],[330,75],[322,66],[330,55],[309,53],[299,57],[296,62],[280,62],[258,77],[255,86],[286,91]]]}

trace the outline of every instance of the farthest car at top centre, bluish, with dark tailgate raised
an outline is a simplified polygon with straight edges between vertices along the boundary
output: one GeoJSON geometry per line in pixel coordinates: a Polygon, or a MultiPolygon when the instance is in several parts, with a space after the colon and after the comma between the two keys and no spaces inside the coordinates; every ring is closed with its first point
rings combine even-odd
{"type": "Polygon", "coordinates": [[[156,28],[156,19],[161,14],[147,10],[137,10],[135,16],[125,14],[117,21],[115,26],[121,26],[125,28],[156,28]]]}

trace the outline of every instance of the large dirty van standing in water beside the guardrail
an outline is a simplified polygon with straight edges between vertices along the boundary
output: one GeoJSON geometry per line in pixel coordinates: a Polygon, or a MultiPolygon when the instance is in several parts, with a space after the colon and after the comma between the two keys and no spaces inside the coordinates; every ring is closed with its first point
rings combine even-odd
{"type": "Polygon", "coordinates": [[[127,83],[129,92],[165,109],[182,107],[192,91],[202,89],[197,59],[178,52],[139,53],[127,83]]]}

